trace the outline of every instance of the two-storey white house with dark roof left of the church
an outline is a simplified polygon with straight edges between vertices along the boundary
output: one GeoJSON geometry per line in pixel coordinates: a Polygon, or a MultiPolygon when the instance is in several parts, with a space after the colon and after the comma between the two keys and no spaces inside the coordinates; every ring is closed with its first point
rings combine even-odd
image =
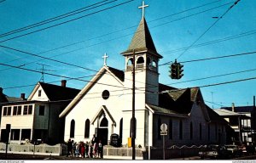
{"type": "Polygon", "coordinates": [[[78,93],[78,89],[66,87],[66,81],[61,81],[61,86],[38,82],[27,100],[3,104],[1,141],[7,138],[6,124],[10,124],[11,143],[26,139],[63,142],[64,120],[58,115],[78,93]]]}

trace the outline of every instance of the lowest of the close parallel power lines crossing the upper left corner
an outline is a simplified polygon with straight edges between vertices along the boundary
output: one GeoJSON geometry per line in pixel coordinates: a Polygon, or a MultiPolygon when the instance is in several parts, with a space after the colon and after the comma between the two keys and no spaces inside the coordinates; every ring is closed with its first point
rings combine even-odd
{"type": "MultiPolygon", "coordinates": [[[[130,1],[127,1],[127,2],[125,2],[125,3],[131,3],[132,1],[134,1],[134,0],[130,0],[130,1]]],[[[117,4],[117,5],[113,5],[113,6],[108,7],[108,8],[103,8],[103,9],[98,10],[98,11],[96,11],[96,12],[93,12],[93,13],[90,13],[90,14],[85,14],[85,15],[83,15],[83,16],[79,16],[78,18],[75,18],[75,19],[73,19],[73,20],[63,21],[63,22],[61,22],[61,23],[58,23],[58,24],[55,24],[55,25],[50,25],[50,26],[48,26],[48,27],[45,27],[45,28],[42,28],[42,29],[39,29],[39,30],[36,30],[36,31],[31,31],[31,32],[28,32],[28,33],[26,33],[26,34],[23,34],[23,35],[20,35],[20,36],[17,36],[17,37],[11,37],[11,38],[6,39],[6,40],[3,40],[3,41],[1,41],[1,42],[7,42],[7,41],[13,40],[13,39],[15,39],[15,38],[24,37],[24,36],[30,35],[30,34],[32,34],[32,33],[38,32],[38,31],[44,31],[44,30],[47,30],[47,29],[49,29],[49,28],[52,28],[52,27],[55,27],[55,26],[58,26],[58,25],[63,25],[63,24],[72,22],[72,21],[74,21],[74,20],[79,20],[79,19],[82,19],[82,18],[84,18],[84,17],[86,17],[86,16],[90,16],[90,15],[92,15],[92,14],[101,13],[102,11],[105,11],[105,10],[108,10],[108,9],[111,9],[111,8],[119,7],[119,6],[121,6],[121,5],[124,5],[125,3],[119,3],[119,4],[117,4]]]]}

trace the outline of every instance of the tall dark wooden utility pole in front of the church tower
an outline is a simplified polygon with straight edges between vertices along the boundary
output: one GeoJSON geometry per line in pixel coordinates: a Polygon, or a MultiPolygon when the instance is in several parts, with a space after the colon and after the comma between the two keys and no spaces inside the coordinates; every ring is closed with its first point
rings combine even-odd
{"type": "Polygon", "coordinates": [[[133,68],[132,68],[132,117],[131,117],[131,147],[132,160],[135,160],[135,50],[133,49],[133,68]]]}

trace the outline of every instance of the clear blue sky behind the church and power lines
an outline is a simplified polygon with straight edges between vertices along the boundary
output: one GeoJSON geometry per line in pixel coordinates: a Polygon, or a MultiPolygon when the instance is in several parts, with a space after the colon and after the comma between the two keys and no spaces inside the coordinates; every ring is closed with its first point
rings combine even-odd
{"type": "MultiPolygon", "coordinates": [[[[52,59],[83,66],[91,70],[101,69],[103,65],[102,56],[104,53],[108,53],[108,65],[119,70],[124,70],[125,59],[120,53],[128,48],[142,17],[142,11],[138,8],[138,6],[142,5],[142,1],[134,0],[125,3],[127,1],[117,0],[112,2],[108,0],[104,2],[108,4],[102,5],[99,8],[92,8],[89,11],[75,14],[63,20],[57,20],[47,25],[41,25],[10,36],[0,37],[0,45],[28,53],[35,53],[44,57],[58,55],[52,59]],[[125,4],[111,8],[119,3],[125,4]],[[110,9],[92,14],[104,8],[110,9]],[[27,32],[37,31],[49,25],[72,20],[86,14],[90,15],[44,31],[38,31],[24,37],[6,41],[9,38],[17,37],[27,32]],[[60,48],[70,44],[73,45],[60,48]],[[43,53],[55,48],[58,49],[43,53]]],[[[102,1],[6,0],[0,3],[0,34],[61,14],[66,14],[98,2],[102,1]]],[[[224,14],[235,2],[234,0],[145,1],[149,5],[148,8],[145,8],[145,18],[148,22],[149,31],[151,32],[157,51],[163,56],[163,59],[160,59],[160,65],[174,61],[174,59],[177,59],[178,62],[183,62],[256,51],[256,1],[241,0],[228,13],[224,14]],[[190,8],[195,9],[186,11],[190,8]],[[186,12],[180,13],[182,11],[186,12]],[[223,14],[224,16],[219,20],[212,18],[220,17],[223,14]],[[218,22],[213,25],[217,20],[218,22]],[[207,31],[211,25],[213,25],[212,28],[207,31]],[[205,31],[207,32],[201,37],[205,31]],[[246,36],[242,35],[242,33],[246,32],[249,32],[246,36]],[[201,38],[195,42],[195,45],[234,36],[237,37],[227,39],[223,42],[208,44],[207,46],[189,48],[184,53],[178,50],[179,48],[191,46],[199,37],[201,38]]],[[[79,77],[90,76],[96,73],[95,71],[62,65],[45,59],[42,60],[26,53],[15,52],[2,47],[0,47],[0,56],[1,64],[18,66],[32,62],[32,64],[24,66],[24,68],[31,70],[39,70],[42,68],[40,64],[44,64],[46,70],[51,70],[45,72],[61,76],[79,77]]],[[[255,77],[256,74],[256,70],[253,70],[256,69],[255,60],[256,55],[253,53],[238,57],[184,63],[184,76],[178,81],[172,80],[169,77],[169,65],[162,65],[159,69],[160,82],[172,87],[185,88],[251,78],[255,77]],[[241,70],[251,71],[230,76],[214,77],[207,80],[186,82],[188,80],[218,76],[241,70]]],[[[20,93],[26,93],[27,97],[32,92],[33,87],[9,87],[36,84],[41,79],[41,74],[39,73],[18,69],[5,70],[7,68],[6,66],[0,65],[0,87],[3,87],[3,93],[9,96],[19,97],[20,93]]],[[[90,78],[84,78],[84,80],[90,80],[90,78]]],[[[54,82],[62,79],[64,78],[44,76],[44,82],[54,82]]],[[[67,87],[81,89],[85,84],[86,82],[73,80],[67,82],[67,87]]],[[[250,80],[214,87],[202,87],[201,91],[210,107],[219,108],[221,105],[231,106],[231,103],[235,103],[238,106],[253,104],[253,95],[256,95],[255,85],[256,80],[250,80]],[[208,103],[212,101],[214,104],[208,103]]]]}

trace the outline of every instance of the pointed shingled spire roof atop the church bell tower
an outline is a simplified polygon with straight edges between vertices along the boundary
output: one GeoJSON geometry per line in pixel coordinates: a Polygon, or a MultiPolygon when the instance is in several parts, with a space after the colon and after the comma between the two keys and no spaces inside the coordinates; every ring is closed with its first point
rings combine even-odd
{"type": "Polygon", "coordinates": [[[132,53],[133,50],[135,50],[135,52],[142,52],[142,51],[151,52],[158,55],[160,58],[162,58],[162,56],[160,56],[160,54],[157,53],[156,48],[154,47],[154,42],[150,35],[150,32],[148,30],[148,25],[144,17],[142,18],[142,20],[140,21],[140,24],[137,27],[137,31],[135,32],[131,40],[129,48],[122,54],[125,55],[128,53],[132,53]]]}

